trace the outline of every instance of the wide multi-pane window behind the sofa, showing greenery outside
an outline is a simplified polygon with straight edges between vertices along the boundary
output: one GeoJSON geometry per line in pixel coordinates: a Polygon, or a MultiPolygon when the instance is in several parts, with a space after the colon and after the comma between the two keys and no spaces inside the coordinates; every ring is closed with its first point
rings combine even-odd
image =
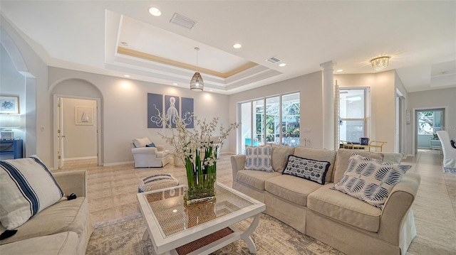
{"type": "Polygon", "coordinates": [[[252,100],[238,104],[239,148],[276,143],[299,146],[299,93],[252,100]]]}

